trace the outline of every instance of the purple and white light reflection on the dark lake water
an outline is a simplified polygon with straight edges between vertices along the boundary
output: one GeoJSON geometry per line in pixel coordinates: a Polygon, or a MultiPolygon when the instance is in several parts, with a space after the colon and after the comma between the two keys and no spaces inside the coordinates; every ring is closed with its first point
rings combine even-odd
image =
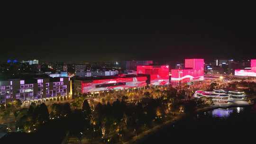
{"type": "Polygon", "coordinates": [[[243,111],[244,108],[242,107],[237,107],[237,108],[217,108],[213,109],[211,111],[212,117],[219,117],[219,118],[227,118],[230,116],[232,113],[237,113],[239,114],[240,112],[243,111]]]}

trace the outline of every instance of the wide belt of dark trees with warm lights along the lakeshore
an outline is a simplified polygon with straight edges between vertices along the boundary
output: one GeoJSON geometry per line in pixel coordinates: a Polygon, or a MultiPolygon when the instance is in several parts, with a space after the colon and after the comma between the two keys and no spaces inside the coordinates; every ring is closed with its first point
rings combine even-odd
{"type": "Polygon", "coordinates": [[[106,93],[106,96],[121,99],[113,102],[102,100],[95,104],[92,99],[88,101],[86,95],[77,97],[72,103],[55,103],[49,107],[44,103],[31,103],[29,108],[20,108],[15,113],[16,126],[19,131],[34,132],[46,126],[50,129],[61,125],[64,133],[69,132],[81,141],[93,139],[114,143],[138,135],[184,110],[193,111],[201,103],[184,101],[187,94],[187,90],[159,87],[106,93]],[[137,95],[139,100],[131,102],[130,93],[137,95]]]}

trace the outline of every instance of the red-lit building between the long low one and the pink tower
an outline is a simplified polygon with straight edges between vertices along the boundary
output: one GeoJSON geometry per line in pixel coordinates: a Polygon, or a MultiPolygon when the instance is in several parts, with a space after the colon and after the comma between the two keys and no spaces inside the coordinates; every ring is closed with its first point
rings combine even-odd
{"type": "Polygon", "coordinates": [[[137,74],[150,75],[152,85],[169,84],[169,65],[138,65],[137,74]]]}

